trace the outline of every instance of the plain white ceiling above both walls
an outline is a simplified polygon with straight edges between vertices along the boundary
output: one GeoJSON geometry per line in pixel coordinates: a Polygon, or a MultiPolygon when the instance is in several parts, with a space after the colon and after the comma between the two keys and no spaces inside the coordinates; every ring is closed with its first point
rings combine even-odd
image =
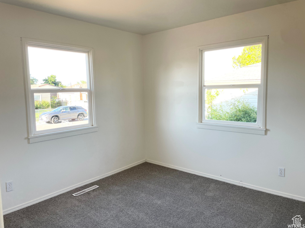
{"type": "Polygon", "coordinates": [[[0,0],[142,35],[292,1],[295,0],[0,0]]]}

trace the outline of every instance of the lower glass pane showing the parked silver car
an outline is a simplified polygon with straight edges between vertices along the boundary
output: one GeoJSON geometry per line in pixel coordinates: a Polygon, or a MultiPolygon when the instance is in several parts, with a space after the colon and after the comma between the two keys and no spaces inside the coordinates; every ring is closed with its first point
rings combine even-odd
{"type": "Polygon", "coordinates": [[[88,125],[88,93],[34,93],[41,96],[35,101],[36,130],[88,125]]]}

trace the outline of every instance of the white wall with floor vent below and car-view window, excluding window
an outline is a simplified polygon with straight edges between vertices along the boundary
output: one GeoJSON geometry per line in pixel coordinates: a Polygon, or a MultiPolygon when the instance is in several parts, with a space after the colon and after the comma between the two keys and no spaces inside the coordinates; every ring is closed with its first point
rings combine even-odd
{"type": "Polygon", "coordinates": [[[0,3],[0,41],[4,210],[145,158],[142,36],[0,3]],[[94,48],[98,132],[28,144],[20,37],[94,48]]]}

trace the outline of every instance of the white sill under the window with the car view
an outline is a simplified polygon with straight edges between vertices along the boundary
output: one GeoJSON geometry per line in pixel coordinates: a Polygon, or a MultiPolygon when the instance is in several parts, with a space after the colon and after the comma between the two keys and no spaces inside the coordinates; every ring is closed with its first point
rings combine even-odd
{"type": "Polygon", "coordinates": [[[59,139],[73,135],[81,135],[98,131],[97,126],[83,127],[78,129],[65,130],[60,132],[46,133],[40,135],[29,136],[29,143],[37,143],[46,140],[59,139]]]}

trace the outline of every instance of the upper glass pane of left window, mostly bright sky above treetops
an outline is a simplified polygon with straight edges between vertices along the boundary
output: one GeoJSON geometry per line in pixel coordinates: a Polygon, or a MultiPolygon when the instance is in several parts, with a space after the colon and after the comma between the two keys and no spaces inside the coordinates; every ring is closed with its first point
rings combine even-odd
{"type": "Polygon", "coordinates": [[[31,88],[88,88],[87,54],[28,47],[31,88]]]}

